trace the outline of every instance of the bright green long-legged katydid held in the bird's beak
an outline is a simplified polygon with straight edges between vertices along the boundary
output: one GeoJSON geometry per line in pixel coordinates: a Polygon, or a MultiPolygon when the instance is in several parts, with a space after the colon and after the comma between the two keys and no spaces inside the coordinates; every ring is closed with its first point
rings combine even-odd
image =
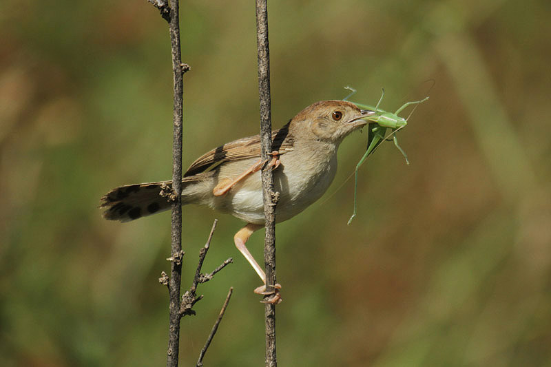
{"type": "MultiPolygon", "coordinates": [[[[346,98],[344,98],[344,101],[346,101],[350,96],[352,96],[356,92],[351,87],[346,87],[346,89],[351,90],[352,93],[346,96],[346,98]]],[[[357,107],[360,107],[361,109],[366,109],[368,111],[373,111],[375,112],[375,114],[372,114],[371,116],[368,116],[365,118],[366,120],[369,120],[372,122],[368,124],[366,152],[364,156],[362,156],[362,159],[360,159],[360,162],[358,162],[356,165],[355,180],[354,180],[354,212],[350,217],[348,224],[350,224],[354,219],[354,217],[356,216],[357,172],[360,169],[360,166],[364,164],[364,161],[366,160],[366,158],[371,154],[373,154],[375,149],[377,149],[377,147],[379,147],[379,145],[384,140],[389,140],[391,136],[393,138],[394,145],[402,153],[404,158],[406,158],[406,163],[409,165],[409,160],[408,160],[408,156],[406,155],[406,152],[398,145],[398,139],[396,137],[396,133],[400,129],[403,129],[408,124],[408,118],[409,116],[411,116],[411,114],[408,116],[408,118],[400,117],[398,116],[398,114],[402,112],[404,108],[408,107],[409,105],[418,105],[419,103],[423,103],[428,99],[428,97],[426,97],[421,101],[404,103],[404,105],[402,105],[402,107],[399,107],[399,109],[397,109],[396,112],[391,113],[391,112],[386,112],[386,111],[383,111],[382,109],[379,109],[379,105],[381,104],[383,97],[384,97],[384,89],[382,90],[381,98],[379,98],[379,102],[377,102],[377,105],[375,107],[370,105],[363,105],[362,103],[352,102],[355,105],[357,105],[357,107]],[[388,134],[388,136],[385,136],[386,129],[392,130],[392,132],[388,134]]],[[[413,111],[411,113],[413,113],[413,111]]]]}

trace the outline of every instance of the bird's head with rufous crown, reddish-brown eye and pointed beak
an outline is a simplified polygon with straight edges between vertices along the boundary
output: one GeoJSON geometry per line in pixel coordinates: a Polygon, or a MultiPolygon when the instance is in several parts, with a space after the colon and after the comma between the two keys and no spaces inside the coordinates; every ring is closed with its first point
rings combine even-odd
{"type": "Polygon", "coordinates": [[[368,123],[373,111],[360,109],[346,101],[322,101],[303,109],[289,129],[295,136],[307,134],[316,140],[340,143],[351,132],[368,123]]]}

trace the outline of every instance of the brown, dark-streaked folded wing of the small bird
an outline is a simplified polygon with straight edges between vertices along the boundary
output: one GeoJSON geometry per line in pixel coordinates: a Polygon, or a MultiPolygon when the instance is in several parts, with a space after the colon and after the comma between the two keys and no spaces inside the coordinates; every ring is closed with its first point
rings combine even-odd
{"type": "MultiPolygon", "coordinates": [[[[294,139],[289,134],[289,123],[281,129],[271,132],[271,139],[272,149],[280,151],[280,154],[293,149],[294,139]]],[[[184,176],[200,174],[223,162],[260,158],[260,155],[260,135],[234,140],[200,156],[195,162],[191,163],[184,176]]]]}

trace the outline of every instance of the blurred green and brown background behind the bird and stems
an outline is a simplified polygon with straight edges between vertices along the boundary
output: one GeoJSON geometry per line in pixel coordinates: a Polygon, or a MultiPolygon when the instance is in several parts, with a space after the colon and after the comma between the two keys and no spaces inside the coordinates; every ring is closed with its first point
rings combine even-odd
{"type": "MultiPolygon", "coordinates": [[[[258,133],[256,34],[252,1],[180,13],[187,167],[258,133]]],[[[368,104],[384,87],[389,111],[430,95],[399,134],[411,165],[388,143],[362,167],[350,226],[365,132],[278,224],[282,366],[551,366],[550,16],[545,0],[269,3],[274,128],[345,85],[368,104]]],[[[97,205],[171,176],[167,24],[145,0],[3,0],[0,32],[0,365],[162,366],[170,216],[120,224],[97,205]]],[[[204,269],[235,262],[200,286],[180,364],[233,286],[205,364],[260,366],[239,220],[185,207],[183,286],[214,218],[204,269]]]]}

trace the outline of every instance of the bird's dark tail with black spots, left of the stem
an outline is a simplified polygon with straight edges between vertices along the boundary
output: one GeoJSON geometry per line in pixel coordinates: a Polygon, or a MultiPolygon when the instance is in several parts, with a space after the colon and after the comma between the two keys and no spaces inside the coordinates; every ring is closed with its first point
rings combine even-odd
{"type": "Polygon", "coordinates": [[[171,189],[172,181],[117,187],[101,198],[99,207],[104,209],[103,218],[129,222],[170,209],[171,189]]]}

